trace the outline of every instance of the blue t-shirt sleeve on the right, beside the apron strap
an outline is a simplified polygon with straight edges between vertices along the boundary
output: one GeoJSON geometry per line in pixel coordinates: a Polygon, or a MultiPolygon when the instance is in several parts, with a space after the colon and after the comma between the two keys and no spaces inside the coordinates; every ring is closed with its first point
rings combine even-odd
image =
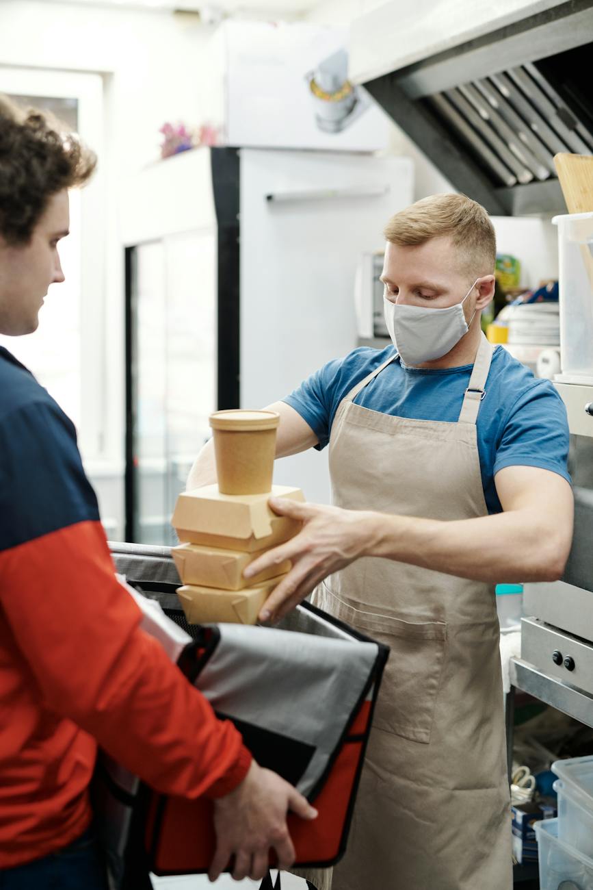
{"type": "Polygon", "coordinates": [[[537,466],[571,478],[564,402],[549,381],[538,380],[512,405],[496,449],[493,474],[506,466],[537,466]]]}

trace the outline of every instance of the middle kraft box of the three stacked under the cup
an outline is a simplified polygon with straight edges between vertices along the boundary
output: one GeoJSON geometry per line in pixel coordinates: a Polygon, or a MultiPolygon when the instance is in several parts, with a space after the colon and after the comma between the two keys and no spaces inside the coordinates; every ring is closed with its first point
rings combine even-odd
{"type": "Polygon", "coordinates": [[[242,590],[253,587],[268,578],[284,575],[291,568],[289,560],[260,571],[253,578],[244,578],[244,569],[256,560],[264,550],[243,553],[240,550],[225,550],[220,547],[204,547],[199,544],[180,544],[172,547],[172,557],[183,584],[198,587],[221,587],[223,590],[242,590]]]}

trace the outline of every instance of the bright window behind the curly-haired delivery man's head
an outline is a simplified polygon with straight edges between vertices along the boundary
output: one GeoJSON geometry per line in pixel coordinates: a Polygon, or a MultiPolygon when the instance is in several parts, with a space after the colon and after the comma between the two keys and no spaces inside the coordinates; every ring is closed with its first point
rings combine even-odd
{"type": "MultiPolygon", "coordinates": [[[[100,157],[103,84],[99,75],[0,66],[0,92],[21,104],[51,110],[100,157]]],[[[39,328],[28,336],[0,336],[74,421],[84,457],[102,451],[104,405],[104,220],[100,171],[84,190],[70,193],[70,235],[60,242],[66,276],[52,285],[39,328]]]]}

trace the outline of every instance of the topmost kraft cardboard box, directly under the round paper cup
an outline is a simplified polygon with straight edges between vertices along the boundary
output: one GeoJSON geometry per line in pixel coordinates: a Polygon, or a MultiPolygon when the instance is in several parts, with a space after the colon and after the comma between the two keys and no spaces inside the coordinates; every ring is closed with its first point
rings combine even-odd
{"type": "Polygon", "coordinates": [[[223,495],[218,485],[204,485],[180,494],[172,525],[181,542],[244,553],[268,550],[301,530],[301,522],[276,516],[269,508],[272,495],[305,500],[301,489],[287,485],[274,485],[271,491],[259,495],[223,495]]]}

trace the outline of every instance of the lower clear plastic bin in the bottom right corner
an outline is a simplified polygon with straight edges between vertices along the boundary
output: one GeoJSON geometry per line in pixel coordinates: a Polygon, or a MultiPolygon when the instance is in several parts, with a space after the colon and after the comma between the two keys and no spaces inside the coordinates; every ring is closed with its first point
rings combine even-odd
{"type": "Polygon", "coordinates": [[[540,856],[540,890],[593,890],[593,859],[558,837],[558,820],[535,822],[540,856]],[[570,882],[567,883],[564,882],[570,882]]]}

